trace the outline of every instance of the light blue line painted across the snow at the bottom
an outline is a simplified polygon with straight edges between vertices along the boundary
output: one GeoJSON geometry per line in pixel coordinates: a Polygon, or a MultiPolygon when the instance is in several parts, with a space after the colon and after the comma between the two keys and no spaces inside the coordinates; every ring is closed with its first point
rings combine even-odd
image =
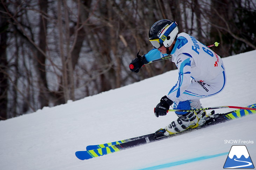
{"type": "Polygon", "coordinates": [[[201,156],[201,157],[191,158],[191,159],[187,159],[187,160],[183,160],[183,161],[170,162],[170,163],[166,163],[166,164],[162,164],[162,165],[151,166],[149,168],[143,168],[140,170],[156,170],[156,169],[168,168],[171,166],[182,165],[182,164],[187,164],[190,162],[196,162],[196,161],[201,161],[204,159],[210,159],[210,158],[214,158],[214,157],[218,157],[218,156],[228,155],[228,153],[229,152],[224,152],[224,153],[216,154],[216,155],[201,156]]]}

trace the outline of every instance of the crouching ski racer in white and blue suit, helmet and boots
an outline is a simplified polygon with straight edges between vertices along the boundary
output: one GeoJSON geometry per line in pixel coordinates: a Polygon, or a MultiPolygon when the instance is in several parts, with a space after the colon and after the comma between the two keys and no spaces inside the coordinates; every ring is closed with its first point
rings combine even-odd
{"type": "MultiPolygon", "coordinates": [[[[221,57],[187,33],[178,34],[175,21],[159,20],[149,30],[149,41],[154,49],[133,59],[129,65],[132,72],[150,61],[172,55],[171,61],[178,68],[178,81],[154,108],[156,117],[173,109],[201,108],[200,99],[220,93],[226,84],[225,68],[221,57]],[[191,80],[192,78],[192,80],[191,80]]],[[[156,137],[168,136],[189,128],[203,125],[208,117],[206,111],[175,112],[177,120],[164,129],[156,131],[156,137]]]]}

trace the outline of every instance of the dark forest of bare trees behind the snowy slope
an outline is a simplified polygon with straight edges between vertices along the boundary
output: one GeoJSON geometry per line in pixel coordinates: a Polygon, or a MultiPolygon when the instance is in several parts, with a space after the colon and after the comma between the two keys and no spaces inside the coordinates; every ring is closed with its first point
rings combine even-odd
{"type": "Polygon", "coordinates": [[[0,116],[125,86],[175,69],[169,60],[129,70],[152,49],[148,31],[170,19],[219,55],[256,49],[253,0],[0,0],[0,116]],[[229,50],[227,50],[229,49],[229,50]]]}

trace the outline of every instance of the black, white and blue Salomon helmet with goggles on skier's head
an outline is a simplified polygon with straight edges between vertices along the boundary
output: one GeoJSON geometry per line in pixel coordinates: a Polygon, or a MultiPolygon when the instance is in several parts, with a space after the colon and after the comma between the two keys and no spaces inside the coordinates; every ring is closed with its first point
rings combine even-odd
{"type": "Polygon", "coordinates": [[[149,29],[149,41],[154,48],[171,46],[178,34],[178,25],[175,21],[159,20],[149,29]]]}

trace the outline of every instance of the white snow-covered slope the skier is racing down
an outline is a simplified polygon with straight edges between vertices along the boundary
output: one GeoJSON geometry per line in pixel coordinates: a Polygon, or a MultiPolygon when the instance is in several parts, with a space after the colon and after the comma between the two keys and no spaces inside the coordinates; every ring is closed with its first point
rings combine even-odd
{"type": "MultiPolygon", "coordinates": [[[[202,106],[246,107],[256,103],[256,50],[223,61],[227,86],[222,93],[202,99],[202,106]]],[[[84,161],[75,157],[75,152],[85,150],[87,145],[150,134],[167,126],[176,115],[157,118],[153,108],[177,77],[177,70],[172,70],[79,101],[0,121],[0,169],[217,170],[223,169],[232,145],[246,145],[256,163],[256,114],[101,157],[84,161]],[[245,143],[228,143],[234,140],[245,143]]],[[[218,109],[218,113],[231,110],[218,109]]]]}

